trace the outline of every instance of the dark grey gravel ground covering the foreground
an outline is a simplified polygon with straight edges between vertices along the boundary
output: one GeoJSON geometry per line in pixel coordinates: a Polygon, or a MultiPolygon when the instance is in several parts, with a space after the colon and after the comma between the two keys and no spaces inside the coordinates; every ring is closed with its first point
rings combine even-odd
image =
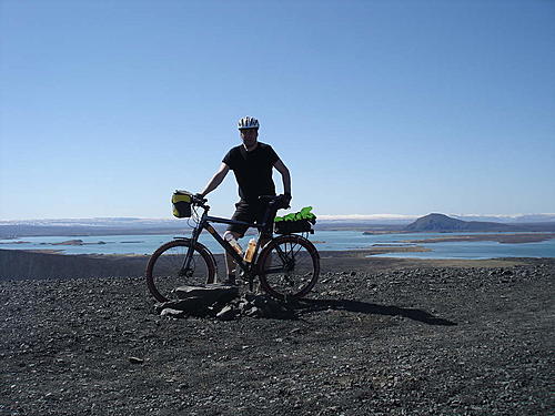
{"type": "Polygon", "coordinates": [[[295,319],[160,316],[142,277],[0,282],[0,415],[554,414],[553,258],[326,262],[295,319]]]}

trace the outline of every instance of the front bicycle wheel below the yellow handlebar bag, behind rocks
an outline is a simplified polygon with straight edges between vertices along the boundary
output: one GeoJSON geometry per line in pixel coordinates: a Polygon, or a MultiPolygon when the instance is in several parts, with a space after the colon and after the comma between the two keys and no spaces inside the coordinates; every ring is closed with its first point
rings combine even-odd
{"type": "Polygon", "coordinates": [[[183,275],[182,266],[191,240],[179,239],[161,245],[147,265],[147,285],[158,302],[176,300],[174,290],[182,285],[214,283],[216,265],[212,253],[202,244],[194,245],[192,270],[183,275]]]}

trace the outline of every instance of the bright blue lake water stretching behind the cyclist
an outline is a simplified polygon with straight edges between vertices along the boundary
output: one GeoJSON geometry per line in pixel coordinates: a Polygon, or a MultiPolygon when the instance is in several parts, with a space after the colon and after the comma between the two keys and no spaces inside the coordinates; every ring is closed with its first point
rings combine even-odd
{"type": "MultiPolygon", "coordinates": [[[[480,233],[486,234],[486,233],[480,233]]],[[[496,233],[494,233],[496,234],[496,233]]],[[[472,233],[413,233],[364,235],[360,231],[317,231],[310,236],[320,251],[363,250],[374,244],[402,244],[405,240],[424,240],[452,235],[475,235],[472,233]]],[[[0,248],[6,250],[60,250],[63,254],[152,254],[161,244],[175,236],[186,235],[105,235],[105,236],[41,236],[18,240],[0,240],[0,248]],[[82,240],[83,245],[51,245],[68,240],[82,240]],[[14,242],[23,242],[14,244],[14,242]],[[103,244],[99,244],[102,242],[103,244]]],[[[245,246],[249,239],[242,239],[245,246]]],[[[223,253],[221,246],[208,233],[203,233],[201,243],[213,253],[223,253]]],[[[408,244],[411,245],[411,244],[408,244]]],[[[501,244],[491,241],[421,243],[431,252],[387,253],[382,257],[411,258],[497,258],[497,257],[555,257],[555,239],[539,243],[501,244]]]]}

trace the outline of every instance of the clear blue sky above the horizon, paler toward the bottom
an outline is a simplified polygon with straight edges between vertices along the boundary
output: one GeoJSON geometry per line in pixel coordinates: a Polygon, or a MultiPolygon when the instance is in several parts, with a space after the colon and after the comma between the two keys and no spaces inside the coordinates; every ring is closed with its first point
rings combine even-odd
{"type": "MultiPolygon", "coordinates": [[[[169,217],[243,115],[293,209],[553,213],[554,22],[534,0],[0,0],[0,220],[169,217]]],[[[230,215],[233,175],[209,197],[230,215]]]]}

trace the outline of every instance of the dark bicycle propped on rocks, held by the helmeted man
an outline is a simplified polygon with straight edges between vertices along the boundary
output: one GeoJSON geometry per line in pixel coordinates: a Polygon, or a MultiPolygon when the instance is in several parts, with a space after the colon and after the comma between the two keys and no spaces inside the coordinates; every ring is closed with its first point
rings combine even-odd
{"type": "MultiPolygon", "coordinates": [[[[150,293],[159,302],[175,300],[174,290],[184,284],[198,285],[215,283],[218,270],[214,255],[199,242],[206,230],[229,253],[241,270],[240,278],[249,284],[252,292],[258,276],[260,287],[269,295],[290,301],[305,296],[316,284],[320,274],[320,254],[307,237],[294,233],[273,236],[273,217],[280,206],[280,196],[261,196],[268,201],[268,210],[262,224],[251,224],[208,215],[208,200],[191,195],[191,206],[196,225],[192,236],[175,237],[161,245],[150,257],[147,266],[147,283],[150,293]],[[203,210],[199,216],[196,207],[203,210]],[[254,256],[245,261],[233,246],[222,239],[211,223],[242,224],[259,231],[254,256]],[[261,235],[272,236],[260,247],[261,235]],[[260,250],[260,254],[259,254],[260,250]]],[[[313,231],[311,230],[313,233],[313,231]]],[[[303,231],[303,234],[309,232],[303,231]]]]}

